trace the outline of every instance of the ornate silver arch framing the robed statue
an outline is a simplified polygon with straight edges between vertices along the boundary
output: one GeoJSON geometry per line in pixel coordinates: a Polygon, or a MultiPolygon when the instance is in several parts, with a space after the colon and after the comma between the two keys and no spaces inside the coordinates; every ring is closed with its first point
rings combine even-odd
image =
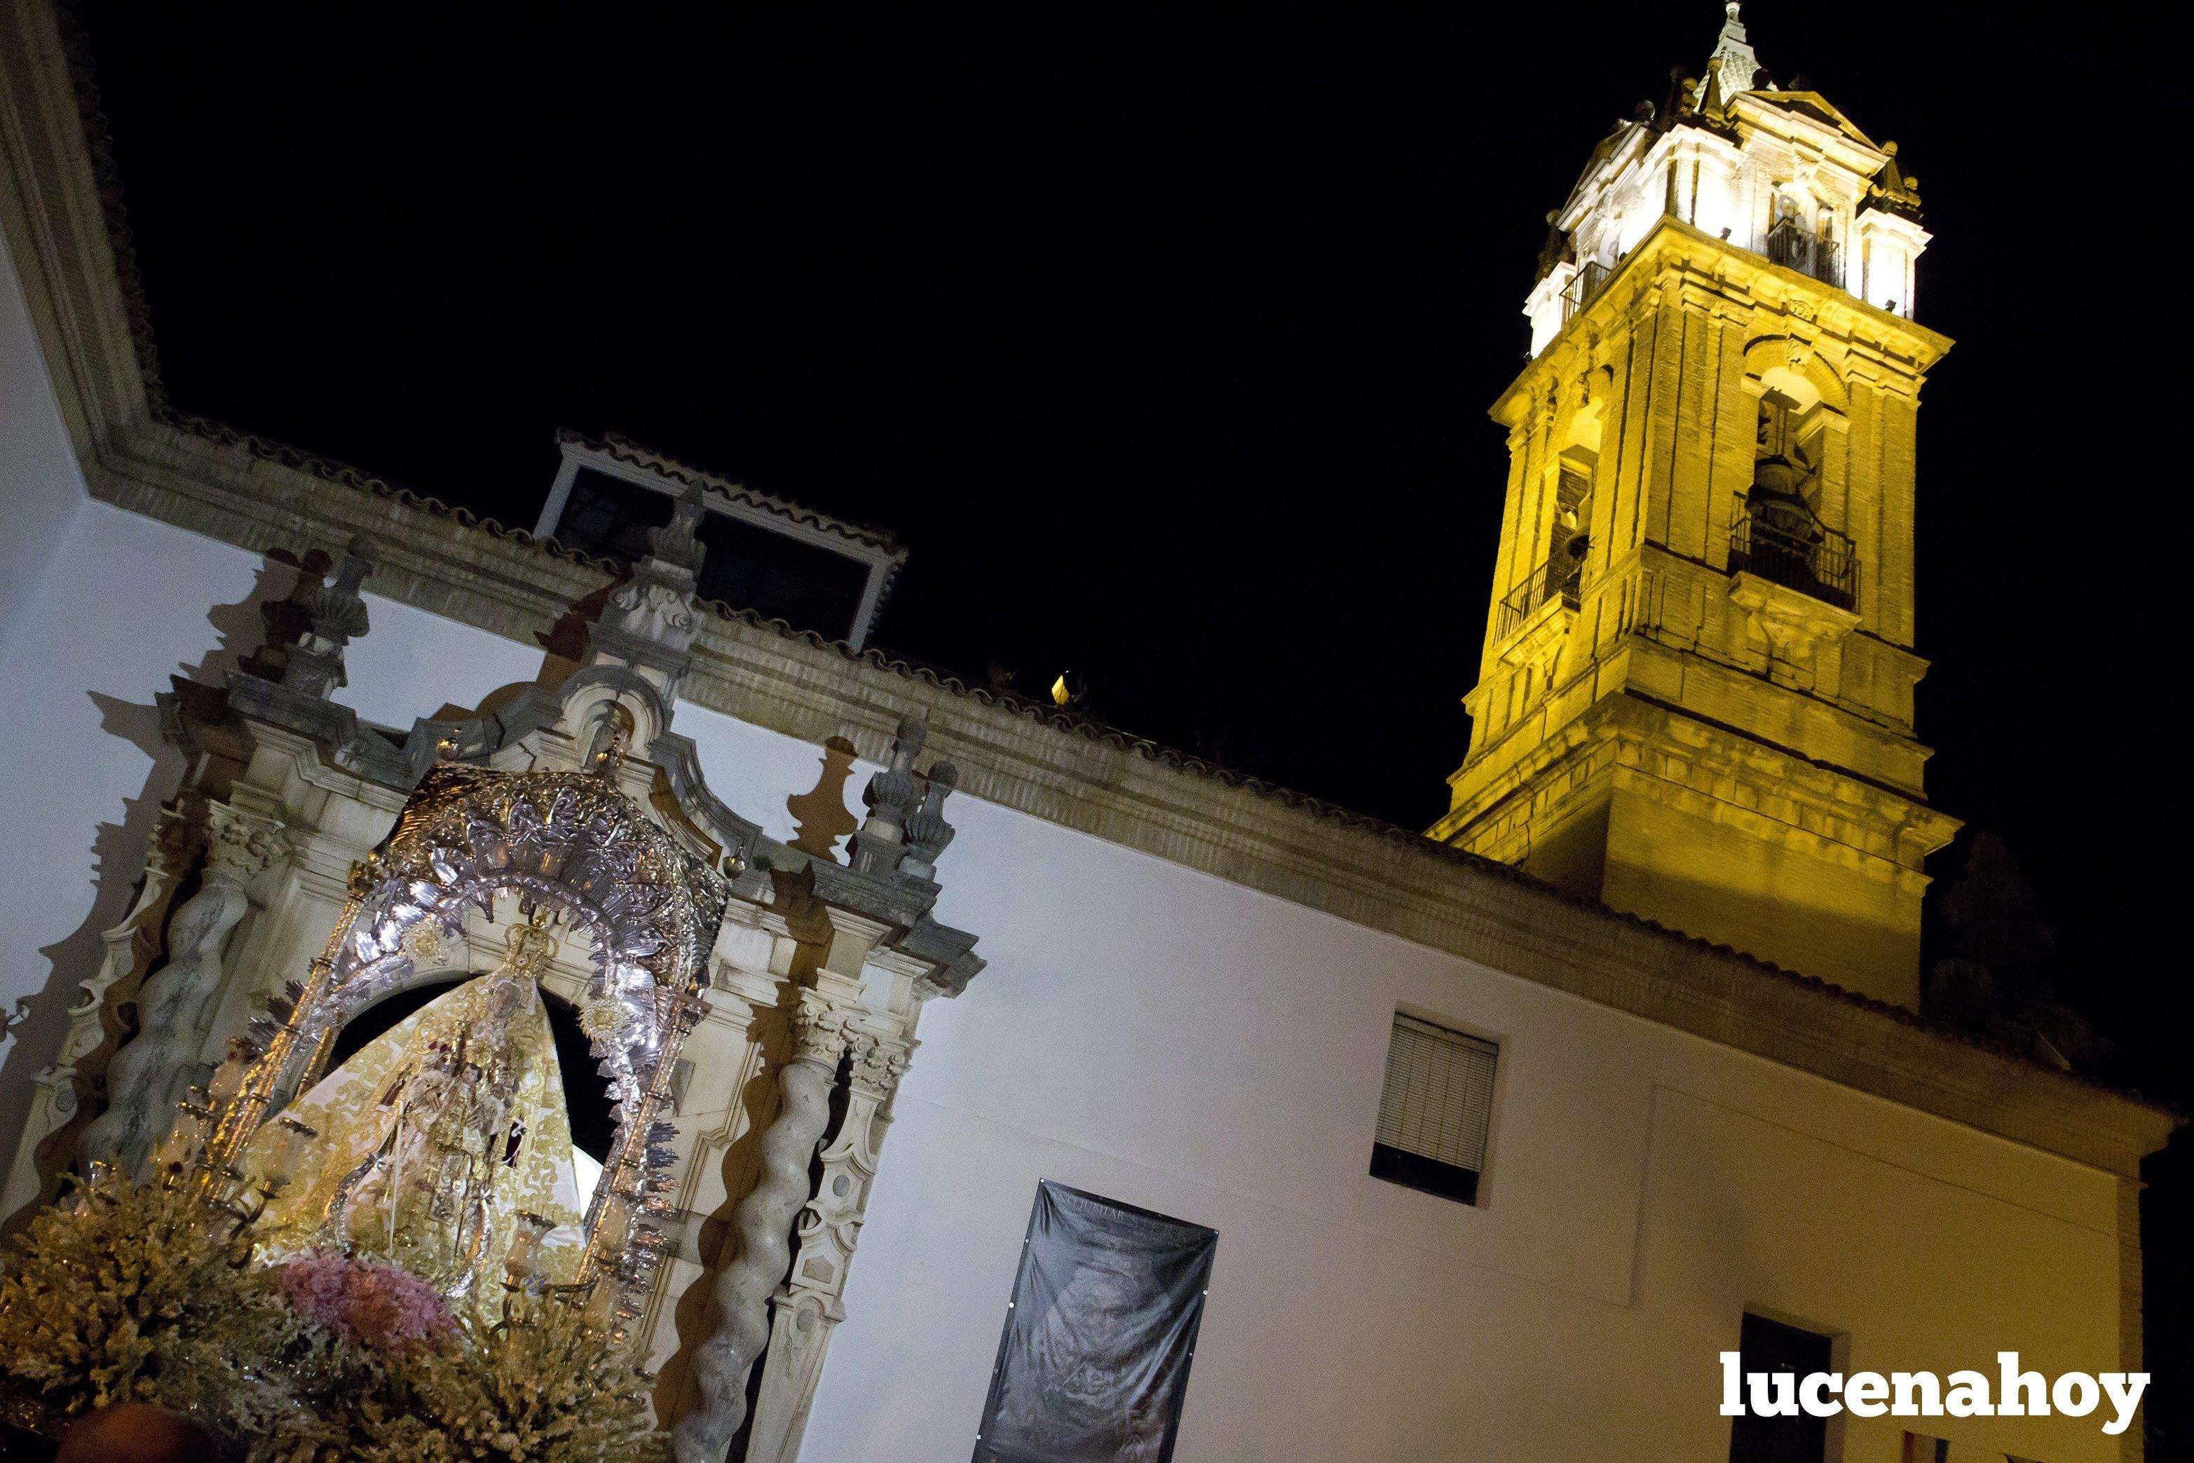
{"type": "Polygon", "coordinates": [[[336,1031],[412,972],[419,932],[456,934],[498,895],[590,937],[588,1035],[617,1103],[617,1138],[586,1211],[581,1281],[623,1288],[636,1316],[663,1257],[658,1220],[674,1130],[658,1123],[678,1048],[702,1013],[731,882],[647,818],[606,774],[434,765],[386,840],[351,871],[351,897],[303,983],[244,1037],[250,1066],[208,1143],[228,1171],[259,1125],[325,1064],[336,1031]]]}

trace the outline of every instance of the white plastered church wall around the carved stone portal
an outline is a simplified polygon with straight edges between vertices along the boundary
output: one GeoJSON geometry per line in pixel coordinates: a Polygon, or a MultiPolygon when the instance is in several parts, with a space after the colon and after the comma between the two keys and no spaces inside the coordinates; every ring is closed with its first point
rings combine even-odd
{"type": "MultiPolygon", "coordinates": [[[[11,581],[0,623],[0,991],[44,991],[0,1070],[0,1132],[173,785],[154,695],[233,665],[257,643],[250,601],[287,588],[252,555],[81,502],[50,432],[18,439],[15,382],[11,502],[29,483],[68,507],[33,513],[44,572],[11,581]]],[[[384,724],[540,667],[531,647],[371,612],[342,700],[384,724]]],[[[790,833],[818,748],[695,706],[678,726],[720,796],[790,833]]],[[[954,809],[937,912],[981,934],[989,969],[924,1018],[810,1463],[970,1454],[1040,1178],[1220,1230],[1183,1463],[1718,1461],[1714,1353],[1746,1305],[1850,1331],[1852,1366],[2117,1356],[2102,1173],[1022,814],[954,809]],[[1365,1171],[1404,1005],[1503,1040],[1479,1209],[1365,1171]]],[[[2049,1463],[2115,1456],[2093,1421],[1933,1428],[2049,1463]]],[[[1889,1424],[1854,1421],[1845,1463],[1896,1450],[1889,1424]]]]}

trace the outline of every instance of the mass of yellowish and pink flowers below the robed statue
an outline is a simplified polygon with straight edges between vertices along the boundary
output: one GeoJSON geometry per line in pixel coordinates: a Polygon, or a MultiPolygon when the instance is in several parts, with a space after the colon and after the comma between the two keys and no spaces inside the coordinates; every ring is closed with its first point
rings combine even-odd
{"type": "Polygon", "coordinates": [[[151,1402],[252,1463],[656,1463],[649,1386],[570,1305],[487,1327],[395,1266],[259,1263],[184,1184],[99,1176],[0,1257],[0,1404],[44,1430],[151,1402]]]}

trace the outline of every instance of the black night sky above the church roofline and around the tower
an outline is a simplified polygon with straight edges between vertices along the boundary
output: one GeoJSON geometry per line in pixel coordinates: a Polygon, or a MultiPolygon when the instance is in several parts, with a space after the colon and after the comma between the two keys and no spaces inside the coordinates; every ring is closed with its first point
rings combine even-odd
{"type": "MultiPolygon", "coordinates": [[[[1545,213],[1722,20],[1481,9],[83,20],[178,408],[522,526],[557,426],[623,432],[893,529],[893,651],[1029,693],[1073,669],[1106,722],[1422,827],[1545,213]]],[[[2185,1105],[2185,959],[2152,937],[2185,899],[2185,88],[2148,59],[2183,37],[2128,15],[1746,20],[1902,145],[1937,235],[1931,798],[2018,855],[2106,1075],[2185,1105]]],[[[2185,1309],[2174,1204],[2150,1268],[2185,1309]]]]}

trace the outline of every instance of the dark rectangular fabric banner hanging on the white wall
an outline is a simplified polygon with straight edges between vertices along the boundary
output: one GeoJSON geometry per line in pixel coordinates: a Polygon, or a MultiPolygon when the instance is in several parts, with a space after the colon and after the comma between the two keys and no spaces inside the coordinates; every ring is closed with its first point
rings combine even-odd
{"type": "Polygon", "coordinates": [[[1038,1184],[974,1463],[1167,1463],[1218,1241],[1038,1184]]]}

